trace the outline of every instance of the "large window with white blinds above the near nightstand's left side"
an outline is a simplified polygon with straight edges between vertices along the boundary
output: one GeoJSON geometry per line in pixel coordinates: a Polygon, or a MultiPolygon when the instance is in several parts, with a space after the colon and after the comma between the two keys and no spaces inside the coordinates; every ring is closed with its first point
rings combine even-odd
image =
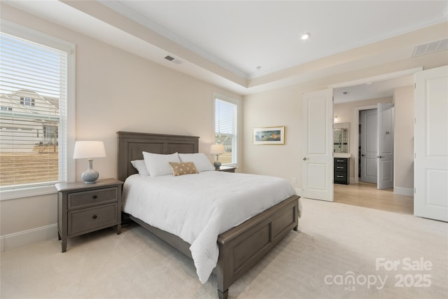
{"type": "Polygon", "coordinates": [[[0,52],[2,197],[3,191],[71,180],[74,46],[6,22],[0,52]]]}

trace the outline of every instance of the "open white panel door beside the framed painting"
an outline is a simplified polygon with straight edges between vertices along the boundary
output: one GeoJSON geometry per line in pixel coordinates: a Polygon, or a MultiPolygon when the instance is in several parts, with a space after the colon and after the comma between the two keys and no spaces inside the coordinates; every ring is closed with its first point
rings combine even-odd
{"type": "Polygon", "coordinates": [[[332,90],[304,94],[302,108],[302,196],[332,202],[332,90]]]}

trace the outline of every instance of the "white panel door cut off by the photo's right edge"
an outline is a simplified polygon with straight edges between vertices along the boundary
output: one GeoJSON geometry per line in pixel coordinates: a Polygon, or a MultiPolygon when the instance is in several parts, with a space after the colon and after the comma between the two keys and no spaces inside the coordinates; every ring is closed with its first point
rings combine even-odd
{"type": "Polygon", "coordinates": [[[448,221],[448,66],[415,83],[414,215],[448,221]]]}

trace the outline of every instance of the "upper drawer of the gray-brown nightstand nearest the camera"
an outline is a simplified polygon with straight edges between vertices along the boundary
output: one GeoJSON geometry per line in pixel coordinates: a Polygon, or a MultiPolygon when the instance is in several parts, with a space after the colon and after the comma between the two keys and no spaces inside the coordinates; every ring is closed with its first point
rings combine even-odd
{"type": "Polygon", "coordinates": [[[105,188],[70,193],[68,196],[68,209],[78,209],[82,207],[94,206],[97,204],[104,204],[106,202],[116,202],[117,198],[118,188],[105,188]]]}

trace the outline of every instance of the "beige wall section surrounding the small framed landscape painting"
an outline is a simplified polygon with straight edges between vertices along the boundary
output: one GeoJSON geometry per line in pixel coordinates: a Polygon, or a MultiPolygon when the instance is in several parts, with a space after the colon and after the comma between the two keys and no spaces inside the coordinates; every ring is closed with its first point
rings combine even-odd
{"type": "Polygon", "coordinates": [[[298,97],[300,93],[294,90],[275,90],[244,97],[244,172],[283,177],[297,188],[293,178],[299,181],[301,174],[297,172],[300,165],[295,157],[299,154],[302,138],[302,106],[298,97]],[[254,127],[277,126],[285,126],[286,145],[253,145],[254,127]]]}

